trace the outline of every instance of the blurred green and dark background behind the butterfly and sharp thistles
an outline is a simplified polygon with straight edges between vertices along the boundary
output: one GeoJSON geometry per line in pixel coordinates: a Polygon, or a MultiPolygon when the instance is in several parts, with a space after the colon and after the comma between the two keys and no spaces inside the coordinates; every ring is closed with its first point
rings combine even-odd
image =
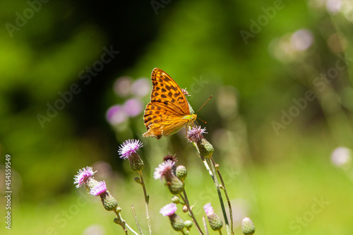
{"type": "Polygon", "coordinates": [[[6,154],[13,191],[11,231],[2,222],[1,234],[124,234],[99,198],[73,185],[86,166],[133,229],[136,207],[148,234],[137,175],[116,152],[129,138],[144,143],[155,234],[177,234],[159,213],[171,195],[152,177],[168,153],[188,169],[200,221],[205,203],[221,215],[184,130],[142,138],[156,67],[189,90],[195,110],[213,95],[198,122],[236,234],[243,217],[256,234],[352,234],[352,1],[6,0],[0,9],[1,195],[6,154]]]}

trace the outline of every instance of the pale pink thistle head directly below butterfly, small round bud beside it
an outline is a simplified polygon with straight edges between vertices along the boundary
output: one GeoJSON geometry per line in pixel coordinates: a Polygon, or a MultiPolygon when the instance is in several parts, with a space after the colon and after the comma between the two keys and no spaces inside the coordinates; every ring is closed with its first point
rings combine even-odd
{"type": "Polygon", "coordinates": [[[155,179],[160,179],[161,181],[164,178],[167,182],[169,191],[173,194],[179,194],[181,193],[181,191],[184,190],[184,183],[180,179],[178,179],[177,176],[174,175],[174,164],[175,163],[172,162],[172,160],[170,159],[165,162],[162,162],[158,165],[158,167],[155,168],[155,173],[153,174],[153,177],[155,179]]]}

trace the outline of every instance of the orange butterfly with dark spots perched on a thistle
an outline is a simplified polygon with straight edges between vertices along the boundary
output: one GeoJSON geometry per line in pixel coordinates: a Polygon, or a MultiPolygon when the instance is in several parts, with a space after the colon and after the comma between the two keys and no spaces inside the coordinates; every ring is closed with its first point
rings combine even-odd
{"type": "Polygon", "coordinates": [[[153,69],[151,79],[151,101],[143,115],[147,132],[143,133],[143,137],[160,139],[177,133],[185,126],[193,126],[197,115],[191,114],[179,85],[160,68],[153,69]]]}

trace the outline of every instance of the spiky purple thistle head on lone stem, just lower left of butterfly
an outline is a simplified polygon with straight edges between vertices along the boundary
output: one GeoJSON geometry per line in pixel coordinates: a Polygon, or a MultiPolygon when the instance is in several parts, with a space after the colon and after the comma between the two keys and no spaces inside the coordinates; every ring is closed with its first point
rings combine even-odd
{"type": "Polygon", "coordinates": [[[128,159],[130,167],[133,171],[141,171],[145,164],[143,160],[137,153],[137,150],[143,146],[143,143],[140,140],[126,140],[125,143],[122,143],[119,147],[119,155],[122,159],[128,159]]]}

